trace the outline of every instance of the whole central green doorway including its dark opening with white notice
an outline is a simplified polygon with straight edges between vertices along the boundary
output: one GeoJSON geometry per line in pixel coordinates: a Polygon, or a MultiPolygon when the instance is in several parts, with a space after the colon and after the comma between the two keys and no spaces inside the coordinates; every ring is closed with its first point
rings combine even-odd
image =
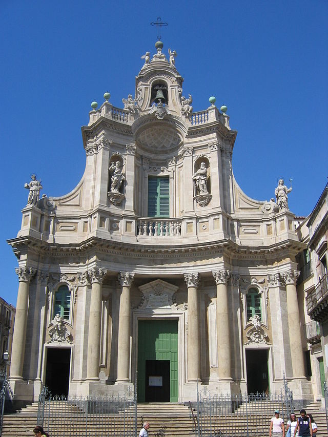
{"type": "Polygon", "coordinates": [[[138,402],[178,401],[178,321],[139,320],[138,402]]]}

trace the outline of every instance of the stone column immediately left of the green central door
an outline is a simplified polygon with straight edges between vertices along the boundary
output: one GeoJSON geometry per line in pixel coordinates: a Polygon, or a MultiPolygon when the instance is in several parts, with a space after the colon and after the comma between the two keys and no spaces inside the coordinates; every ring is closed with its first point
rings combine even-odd
{"type": "Polygon", "coordinates": [[[122,286],[118,314],[117,380],[130,382],[130,290],[134,273],[120,272],[118,281],[122,286]]]}

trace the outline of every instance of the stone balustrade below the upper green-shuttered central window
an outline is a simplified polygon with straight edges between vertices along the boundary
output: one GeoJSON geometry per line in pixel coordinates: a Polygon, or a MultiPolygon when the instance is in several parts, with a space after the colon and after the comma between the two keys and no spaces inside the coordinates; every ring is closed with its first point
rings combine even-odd
{"type": "Polygon", "coordinates": [[[138,220],[138,236],[178,237],[181,235],[181,220],[138,220]]]}

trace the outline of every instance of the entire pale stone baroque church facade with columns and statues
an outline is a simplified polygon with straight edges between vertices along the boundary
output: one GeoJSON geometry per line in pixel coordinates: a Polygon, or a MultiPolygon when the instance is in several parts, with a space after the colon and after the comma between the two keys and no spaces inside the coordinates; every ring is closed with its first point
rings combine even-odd
{"type": "MultiPolygon", "coordinates": [[[[26,184],[10,383],[17,400],[124,393],[187,402],[280,391],[313,399],[306,378],[297,256],[288,209],[246,196],[232,171],[237,132],[215,99],[193,112],[157,41],[135,97],[92,103],[86,169],[67,195],[26,184]]],[[[186,93],[185,93],[186,95],[186,93]]]]}

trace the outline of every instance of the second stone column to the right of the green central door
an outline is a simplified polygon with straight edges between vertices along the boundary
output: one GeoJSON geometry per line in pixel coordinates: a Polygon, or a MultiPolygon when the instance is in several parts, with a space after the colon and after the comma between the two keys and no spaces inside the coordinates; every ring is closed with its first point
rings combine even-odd
{"type": "Polygon", "coordinates": [[[230,323],[228,306],[228,280],[230,272],[227,269],[212,272],[217,285],[216,320],[217,320],[217,352],[218,373],[220,380],[232,380],[230,356],[230,323]]]}

